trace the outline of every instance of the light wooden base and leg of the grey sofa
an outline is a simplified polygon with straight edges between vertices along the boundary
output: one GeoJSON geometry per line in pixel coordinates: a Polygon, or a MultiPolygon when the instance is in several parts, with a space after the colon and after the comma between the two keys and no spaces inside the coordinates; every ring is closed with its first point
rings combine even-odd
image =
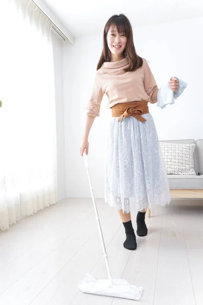
{"type": "MultiPolygon", "coordinates": [[[[171,198],[201,198],[203,199],[203,190],[171,189],[171,198]]],[[[150,209],[147,208],[147,216],[151,217],[150,209]]]]}

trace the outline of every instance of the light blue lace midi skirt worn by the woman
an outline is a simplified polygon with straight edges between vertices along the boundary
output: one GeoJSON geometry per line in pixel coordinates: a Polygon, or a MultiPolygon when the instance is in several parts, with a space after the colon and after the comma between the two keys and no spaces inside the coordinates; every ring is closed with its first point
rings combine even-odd
{"type": "Polygon", "coordinates": [[[170,203],[170,188],[153,117],[111,117],[107,139],[105,202],[123,212],[170,203]]]}

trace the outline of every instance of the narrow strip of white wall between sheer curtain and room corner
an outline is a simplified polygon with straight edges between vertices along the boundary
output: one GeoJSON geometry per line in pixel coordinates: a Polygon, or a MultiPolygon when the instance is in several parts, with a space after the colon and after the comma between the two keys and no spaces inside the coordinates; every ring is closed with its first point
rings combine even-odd
{"type": "Polygon", "coordinates": [[[56,99],[56,136],[57,136],[57,165],[58,165],[58,201],[66,198],[65,177],[65,146],[64,146],[64,109],[62,82],[62,40],[52,31],[55,99],[56,99]]]}

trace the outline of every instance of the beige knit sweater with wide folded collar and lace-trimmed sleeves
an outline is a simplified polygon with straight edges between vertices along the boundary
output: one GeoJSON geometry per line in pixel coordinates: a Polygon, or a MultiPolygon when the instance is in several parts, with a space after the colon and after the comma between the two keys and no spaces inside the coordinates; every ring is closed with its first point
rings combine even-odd
{"type": "Polygon", "coordinates": [[[158,87],[154,76],[143,58],[143,66],[132,72],[123,69],[128,65],[128,58],[118,62],[105,62],[96,71],[91,97],[86,106],[86,114],[99,116],[100,103],[104,94],[108,97],[111,108],[118,103],[136,101],[157,102],[158,87]]]}

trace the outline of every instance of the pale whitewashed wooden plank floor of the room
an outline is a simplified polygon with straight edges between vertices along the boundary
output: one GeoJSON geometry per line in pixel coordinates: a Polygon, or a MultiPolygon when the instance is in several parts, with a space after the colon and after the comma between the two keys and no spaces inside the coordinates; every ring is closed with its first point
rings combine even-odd
{"type": "MultiPolygon", "coordinates": [[[[96,201],[113,278],[143,286],[141,300],[78,290],[86,272],[107,274],[91,199],[66,199],[0,231],[1,305],[203,304],[202,200],[156,206],[136,251],[123,248],[118,212],[96,201]]],[[[134,214],[132,222],[136,230],[134,214]]]]}

